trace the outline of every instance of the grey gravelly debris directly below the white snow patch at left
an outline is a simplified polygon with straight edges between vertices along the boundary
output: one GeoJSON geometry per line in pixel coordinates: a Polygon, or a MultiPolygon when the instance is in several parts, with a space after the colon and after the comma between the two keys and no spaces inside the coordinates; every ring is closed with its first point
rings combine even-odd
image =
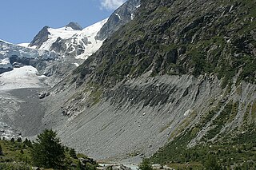
{"type": "Polygon", "coordinates": [[[10,134],[1,136],[34,136],[42,132],[42,117],[45,108],[38,99],[37,93],[43,89],[11,89],[0,91],[0,120],[2,131],[7,132],[11,129],[10,134]],[[4,129],[5,127],[8,127],[4,129]]]}

